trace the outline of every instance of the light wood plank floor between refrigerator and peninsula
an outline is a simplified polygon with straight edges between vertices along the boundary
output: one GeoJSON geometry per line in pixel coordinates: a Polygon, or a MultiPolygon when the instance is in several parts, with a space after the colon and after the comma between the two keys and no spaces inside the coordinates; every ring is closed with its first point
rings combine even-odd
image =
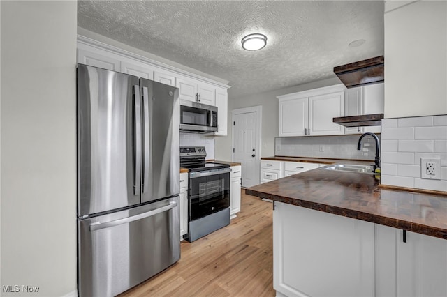
{"type": "Polygon", "coordinates": [[[177,264],[120,297],[275,296],[272,204],[244,192],[229,226],[193,243],[182,241],[177,264]]]}

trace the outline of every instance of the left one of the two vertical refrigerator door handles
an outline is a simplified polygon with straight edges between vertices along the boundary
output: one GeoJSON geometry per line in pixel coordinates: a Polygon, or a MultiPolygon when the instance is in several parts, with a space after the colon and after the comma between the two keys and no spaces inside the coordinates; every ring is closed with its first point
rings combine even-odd
{"type": "Polygon", "coordinates": [[[134,153],[135,153],[135,182],[133,183],[133,195],[140,195],[141,193],[141,107],[140,107],[140,86],[133,86],[133,105],[135,111],[135,121],[133,128],[134,135],[134,153]]]}

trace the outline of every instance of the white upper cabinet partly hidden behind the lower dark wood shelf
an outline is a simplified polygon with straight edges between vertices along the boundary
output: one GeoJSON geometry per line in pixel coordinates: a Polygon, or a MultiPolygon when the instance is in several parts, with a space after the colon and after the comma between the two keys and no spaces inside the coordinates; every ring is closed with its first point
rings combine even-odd
{"type": "MultiPolygon", "coordinates": [[[[383,114],[385,84],[367,84],[356,88],[346,89],[344,92],[345,116],[361,116],[364,114],[383,114]]],[[[380,133],[380,126],[348,127],[346,134],[364,132],[380,133]]]]}

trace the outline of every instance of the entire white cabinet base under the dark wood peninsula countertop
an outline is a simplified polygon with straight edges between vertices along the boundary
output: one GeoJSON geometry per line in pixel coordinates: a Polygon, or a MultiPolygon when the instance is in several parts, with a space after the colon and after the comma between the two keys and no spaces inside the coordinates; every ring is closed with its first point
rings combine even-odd
{"type": "Polygon", "coordinates": [[[274,204],[277,296],[447,296],[447,240],[274,204]]]}

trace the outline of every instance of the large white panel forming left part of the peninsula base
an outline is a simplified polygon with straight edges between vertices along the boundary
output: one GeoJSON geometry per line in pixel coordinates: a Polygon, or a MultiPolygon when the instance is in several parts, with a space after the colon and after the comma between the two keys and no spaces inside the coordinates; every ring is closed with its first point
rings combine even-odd
{"type": "Polygon", "coordinates": [[[274,202],[273,287],[285,296],[374,296],[374,225],[274,202]]]}

